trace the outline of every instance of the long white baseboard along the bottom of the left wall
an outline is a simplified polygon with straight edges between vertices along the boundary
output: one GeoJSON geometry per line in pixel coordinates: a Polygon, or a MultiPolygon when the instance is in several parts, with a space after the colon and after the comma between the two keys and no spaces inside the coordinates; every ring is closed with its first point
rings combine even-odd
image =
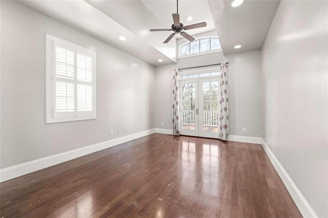
{"type": "Polygon", "coordinates": [[[69,161],[75,158],[79,158],[85,155],[89,155],[93,152],[99,151],[99,150],[103,150],[115,145],[119,145],[134,139],[138,139],[140,137],[144,137],[144,136],[148,136],[150,134],[155,133],[155,129],[149,129],[146,131],[142,131],[139,133],[135,133],[135,134],[131,134],[128,136],[124,136],[124,137],[120,137],[120,138],[116,138],[116,139],[112,139],[109,141],[105,141],[105,142],[100,142],[97,144],[93,144],[93,145],[89,145],[89,146],[85,146],[85,147],[81,147],[81,148],[77,148],[74,150],[69,150],[57,155],[52,155],[49,157],[45,157],[45,158],[41,158],[41,159],[37,159],[34,161],[29,161],[26,163],[22,163],[22,164],[18,164],[15,166],[10,166],[4,169],[0,169],[0,182],[4,182],[7,180],[11,180],[13,178],[16,177],[20,177],[23,175],[26,175],[28,173],[40,170],[40,169],[44,169],[59,163],[63,163],[65,161],[69,161]]]}

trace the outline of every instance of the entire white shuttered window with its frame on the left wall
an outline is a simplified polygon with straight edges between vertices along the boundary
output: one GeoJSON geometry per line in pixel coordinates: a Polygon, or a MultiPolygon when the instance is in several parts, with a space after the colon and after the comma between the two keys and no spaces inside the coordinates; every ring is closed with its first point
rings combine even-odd
{"type": "Polygon", "coordinates": [[[46,123],[96,119],[96,53],[46,35],[46,123]]]}

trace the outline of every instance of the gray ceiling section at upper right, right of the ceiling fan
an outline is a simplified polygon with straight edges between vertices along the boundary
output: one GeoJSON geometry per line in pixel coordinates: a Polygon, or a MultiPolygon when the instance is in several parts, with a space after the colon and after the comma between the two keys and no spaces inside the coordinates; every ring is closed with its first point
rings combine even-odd
{"type": "Polygon", "coordinates": [[[224,55],[260,50],[280,0],[244,0],[236,8],[231,2],[208,0],[224,55]]]}

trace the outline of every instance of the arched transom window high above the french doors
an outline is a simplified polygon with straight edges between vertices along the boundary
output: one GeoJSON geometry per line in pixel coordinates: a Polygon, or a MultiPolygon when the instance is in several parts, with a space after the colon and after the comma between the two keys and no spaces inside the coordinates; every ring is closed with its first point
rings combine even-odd
{"type": "Polygon", "coordinates": [[[209,52],[218,49],[221,49],[220,40],[218,38],[201,38],[180,46],[179,56],[209,52]]]}

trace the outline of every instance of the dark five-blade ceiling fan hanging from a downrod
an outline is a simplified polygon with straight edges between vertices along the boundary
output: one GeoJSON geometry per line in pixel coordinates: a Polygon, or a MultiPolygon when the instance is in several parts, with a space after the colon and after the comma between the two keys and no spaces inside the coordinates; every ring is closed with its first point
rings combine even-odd
{"type": "Polygon", "coordinates": [[[168,43],[175,34],[181,34],[181,36],[185,37],[189,41],[195,40],[194,37],[189,35],[188,33],[184,32],[183,30],[191,30],[196,29],[200,27],[206,27],[206,22],[201,22],[198,24],[192,24],[188,26],[183,26],[183,24],[180,23],[180,15],[178,13],[178,0],[176,0],[176,14],[172,14],[173,16],[173,24],[171,26],[171,29],[150,29],[149,31],[174,31],[163,43],[168,43]]]}

